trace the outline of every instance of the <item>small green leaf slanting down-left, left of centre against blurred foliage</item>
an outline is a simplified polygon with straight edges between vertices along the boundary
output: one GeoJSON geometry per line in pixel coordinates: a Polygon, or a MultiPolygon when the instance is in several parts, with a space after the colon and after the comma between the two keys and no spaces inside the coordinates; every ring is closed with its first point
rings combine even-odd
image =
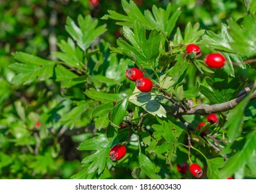
{"type": "Polygon", "coordinates": [[[74,128],[77,121],[81,119],[83,112],[86,112],[88,108],[89,108],[88,103],[83,103],[81,105],[78,105],[77,107],[70,110],[70,112],[63,114],[63,116],[61,116],[61,119],[59,121],[61,121],[63,125],[67,125],[68,127],[70,127],[70,129],[72,129],[74,128]]]}

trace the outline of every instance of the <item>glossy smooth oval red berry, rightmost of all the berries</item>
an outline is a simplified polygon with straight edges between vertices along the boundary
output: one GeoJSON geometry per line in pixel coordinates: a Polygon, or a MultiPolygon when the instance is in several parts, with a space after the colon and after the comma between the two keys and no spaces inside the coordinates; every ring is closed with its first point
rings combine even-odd
{"type": "Polygon", "coordinates": [[[222,66],[225,65],[226,59],[222,54],[213,53],[213,54],[208,54],[205,57],[204,62],[210,68],[221,68],[222,66]]]}

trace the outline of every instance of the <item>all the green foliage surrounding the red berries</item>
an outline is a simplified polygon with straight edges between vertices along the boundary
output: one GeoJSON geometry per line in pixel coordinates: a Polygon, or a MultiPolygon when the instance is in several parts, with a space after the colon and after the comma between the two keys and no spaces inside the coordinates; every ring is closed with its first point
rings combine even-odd
{"type": "MultiPolygon", "coordinates": [[[[80,3],[83,11],[62,13],[66,26],[48,26],[49,36],[56,28],[58,50],[42,48],[46,40],[10,49],[0,32],[7,56],[0,56],[1,178],[193,179],[176,169],[186,162],[198,163],[204,179],[255,179],[254,1],[244,1],[241,10],[237,1],[102,1],[98,15],[99,7],[80,3]],[[122,34],[116,37],[117,26],[122,34]],[[201,56],[186,52],[190,43],[201,56]],[[224,55],[224,68],[206,66],[211,52],[224,55]],[[152,80],[150,92],[126,79],[132,67],[152,80]],[[217,123],[206,121],[212,113],[217,123]],[[111,161],[116,144],[127,153],[111,161]]],[[[26,19],[34,14],[22,6],[18,12],[26,19]]],[[[12,16],[0,26],[18,38],[14,26],[21,21],[12,16]]],[[[37,17],[41,32],[46,19],[37,17]]]]}

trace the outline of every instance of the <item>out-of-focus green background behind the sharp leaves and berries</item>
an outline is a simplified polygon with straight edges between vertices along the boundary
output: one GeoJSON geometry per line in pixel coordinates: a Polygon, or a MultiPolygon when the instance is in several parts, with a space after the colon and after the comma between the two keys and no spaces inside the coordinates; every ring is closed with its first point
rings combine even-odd
{"type": "MultiPolygon", "coordinates": [[[[135,1],[141,10],[152,8],[153,4],[165,8],[169,2],[173,10],[182,10],[177,21],[181,31],[186,23],[199,22],[201,28],[217,33],[221,23],[230,18],[239,21],[246,12],[242,1],[135,1]]],[[[90,137],[90,133],[55,135],[55,129],[59,127],[55,123],[59,119],[55,106],[61,103],[61,96],[59,99],[55,96],[59,93],[59,85],[52,81],[13,85],[10,81],[14,72],[8,65],[14,63],[12,53],[17,51],[53,59],[50,52],[57,50],[57,42],[68,37],[66,18],[69,16],[76,20],[79,14],[91,14],[99,19],[99,25],[107,23],[108,31],[103,39],[115,46],[116,39],[121,36],[121,28],[115,25],[115,21],[100,19],[108,10],[124,12],[121,1],[117,0],[99,0],[97,6],[90,5],[89,0],[0,0],[0,179],[69,179],[81,170],[83,156],[76,148],[90,137]],[[53,111],[49,112],[51,108],[53,111]],[[25,119],[25,114],[29,119],[25,119]],[[46,120],[52,124],[43,125],[46,120]],[[35,149],[39,153],[31,145],[38,145],[35,131],[41,127],[50,127],[51,130],[40,130],[46,137],[41,141],[41,149],[35,149]]],[[[90,123],[89,119],[84,123],[86,121],[90,123]]],[[[130,178],[130,171],[126,172],[130,178]]],[[[126,178],[126,172],[117,173],[115,177],[126,178]]],[[[110,176],[106,174],[104,177],[110,176]]]]}

